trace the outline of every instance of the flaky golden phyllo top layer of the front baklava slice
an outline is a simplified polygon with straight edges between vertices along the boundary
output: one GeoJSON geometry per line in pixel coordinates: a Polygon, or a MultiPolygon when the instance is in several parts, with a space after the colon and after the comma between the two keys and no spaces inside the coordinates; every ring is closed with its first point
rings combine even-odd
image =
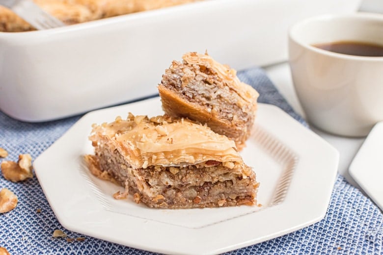
{"type": "Polygon", "coordinates": [[[208,160],[242,161],[234,141],[209,127],[166,115],[148,118],[129,113],[109,124],[94,125],[90,140],[100,139],[123,155],[133,168],[184,166],[208,160]]]}

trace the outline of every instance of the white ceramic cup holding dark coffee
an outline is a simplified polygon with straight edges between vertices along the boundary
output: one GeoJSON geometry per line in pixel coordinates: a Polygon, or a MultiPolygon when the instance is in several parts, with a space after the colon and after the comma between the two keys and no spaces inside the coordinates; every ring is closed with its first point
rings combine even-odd
{"type": "Polygon", "coordinates": [[[344,136],[365,136],[383,120],[383,57],[334,53],[312,45],[353,41],[383,46],[383,15],[313,17],[289,31],[289,62],[306,118],[344,136]]]}

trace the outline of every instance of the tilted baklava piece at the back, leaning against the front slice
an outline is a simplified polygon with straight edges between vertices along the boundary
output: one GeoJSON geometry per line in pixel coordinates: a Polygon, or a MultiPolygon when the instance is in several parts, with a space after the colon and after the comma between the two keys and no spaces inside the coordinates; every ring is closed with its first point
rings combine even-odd
{"type": "Polygon", "coordinates": [[[258,92],[207,53],[182,58],[172,62],[158,85],[165,113],[206,123],[241,150],[254,123],[258,92]]]}

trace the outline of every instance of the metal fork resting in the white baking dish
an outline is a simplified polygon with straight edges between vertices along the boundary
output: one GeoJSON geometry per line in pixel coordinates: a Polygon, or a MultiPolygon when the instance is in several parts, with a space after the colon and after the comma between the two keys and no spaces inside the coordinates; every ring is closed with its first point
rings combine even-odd
{"type": "Polygon", "coordinates": [[[38,30],[65,26],[64,23],[42,10],[32,0],[0,0],[0,5],[11,9],[38,30]]]}

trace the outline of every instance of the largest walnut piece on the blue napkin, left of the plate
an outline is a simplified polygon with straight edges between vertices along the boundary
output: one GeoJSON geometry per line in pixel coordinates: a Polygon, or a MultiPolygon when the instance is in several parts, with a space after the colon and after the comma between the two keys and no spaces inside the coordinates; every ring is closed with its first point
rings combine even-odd
{"type": "Polygon", "coordinates": [[[32,157],[30,154],[20,154],[19,161],[2,161],[1,173],[7,180],[18,182],[32,178],[32,157]]]}

